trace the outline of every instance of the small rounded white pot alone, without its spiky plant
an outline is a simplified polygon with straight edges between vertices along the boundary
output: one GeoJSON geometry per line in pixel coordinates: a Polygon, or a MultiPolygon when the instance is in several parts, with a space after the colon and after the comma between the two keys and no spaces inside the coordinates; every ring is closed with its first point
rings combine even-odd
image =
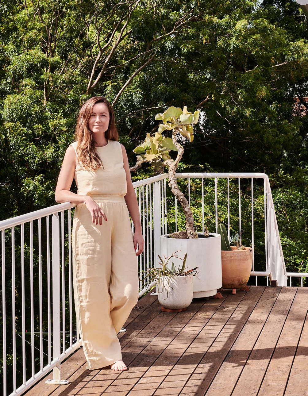
{"type": "Polygon", "coordinates": [[[158,285],[158,301],[164,308],[183,309],[192,302],[194,276],[162,276],[158,285]]]}

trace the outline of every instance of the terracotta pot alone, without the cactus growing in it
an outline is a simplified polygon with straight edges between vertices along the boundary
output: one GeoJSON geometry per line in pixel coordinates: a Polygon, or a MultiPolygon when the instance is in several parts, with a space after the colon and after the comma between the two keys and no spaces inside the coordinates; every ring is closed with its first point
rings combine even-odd
{"type": "Polygon", "coordinates": [[[221,251],[223,289],[245,287],[251,272],[251,247],[245,247],[244,250],[237,250],[236,246],[231,246],[231,249],[221,251]]]}

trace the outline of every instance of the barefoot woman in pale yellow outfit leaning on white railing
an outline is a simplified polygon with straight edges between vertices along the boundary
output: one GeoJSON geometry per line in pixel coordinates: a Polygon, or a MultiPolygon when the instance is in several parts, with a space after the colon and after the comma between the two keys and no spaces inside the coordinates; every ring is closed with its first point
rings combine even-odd
{"type": "Polygon", "coordinates": [[[144,239],[127,154],[106,98],[84,103],[75,138],[65,153],[55,199],[77,204],[72,241],[79,332],[88,369],[110,365],[123,371],[127,367],[117,333],[137,303],[136,256],[143,252],[144,239]],[[77,194],[70,191],[73,178],[77,194]]]}

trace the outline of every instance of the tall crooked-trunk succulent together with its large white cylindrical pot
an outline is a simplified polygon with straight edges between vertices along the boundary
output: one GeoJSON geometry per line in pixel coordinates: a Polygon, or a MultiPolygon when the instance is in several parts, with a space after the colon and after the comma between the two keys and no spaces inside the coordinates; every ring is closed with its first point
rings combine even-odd
{"type": "Polygon", "coordinates": [[[137,164],[131,168],[136,171],[144,162],[150,162],[158,172],[164,168],[168,171],[168,185],[172,193],[180,202],[186,219],[186,230],[161,236],[160,251],[164,255],[172,255],[172,252],[182,250],[188,253],[188,266],[199,263],[198,279],[194,279],[194,297],[209,297],[217,293],[221,287],[221,242],[219,234],[197,233],[194,228],[192,210],[183,192],[177,185],[175,172],[183,156],[184,148],[180,144],[181,139],[194,139],[194,125],[199,120],[200,111],[188,112],[187,107],[183,110],[179,107],[169,107],[164,113],[156,114],[156,120],[162,120],[158,131],[154,136],[147,133],[144,142],[137,146],[134,152],[137,154],[137,164]],[[171,137],[165,134],[171,132],[171,137]],[[176,152],[175,158],[171,158],[170,152],[176,152]]]}

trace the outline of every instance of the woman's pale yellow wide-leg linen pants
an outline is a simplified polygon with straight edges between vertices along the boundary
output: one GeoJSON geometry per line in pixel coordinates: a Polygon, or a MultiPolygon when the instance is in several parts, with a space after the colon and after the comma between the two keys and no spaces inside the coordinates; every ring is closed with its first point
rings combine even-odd
{"type": "Polygon", "coordinates": [[[122,359],[117,334],[138,300],[138,264],[124,196],[93,195],[106,213],[92,222],[78,204],[73,222],[73,282],[77,323],[87,368],[122,359]]]}

